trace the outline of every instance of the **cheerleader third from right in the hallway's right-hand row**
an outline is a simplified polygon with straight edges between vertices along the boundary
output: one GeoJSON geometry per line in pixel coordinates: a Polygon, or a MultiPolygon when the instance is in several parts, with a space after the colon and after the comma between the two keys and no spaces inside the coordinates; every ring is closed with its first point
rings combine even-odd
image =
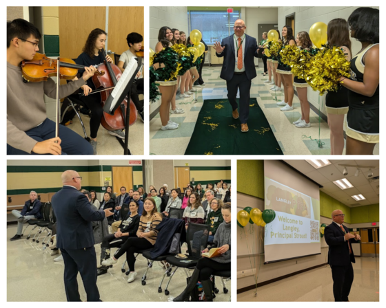
{"type": "MultiPolygon", "coordinates": [[[[302,31],[299,32],[296,36],[296,45],[301,50],[309,50],[312,47],[312,41],[309,39],[309,35],[307,32],[302,31]]],[[[298,128],[311,127],[309,122],[309,102],[307,100],[307,87],[308,83],[302,78],[294,78],[294,86],[296,87],[296,91],[298,92],[298,98],[301,101],[301,111],[302,115],[295,124],[298,128]]]]}

